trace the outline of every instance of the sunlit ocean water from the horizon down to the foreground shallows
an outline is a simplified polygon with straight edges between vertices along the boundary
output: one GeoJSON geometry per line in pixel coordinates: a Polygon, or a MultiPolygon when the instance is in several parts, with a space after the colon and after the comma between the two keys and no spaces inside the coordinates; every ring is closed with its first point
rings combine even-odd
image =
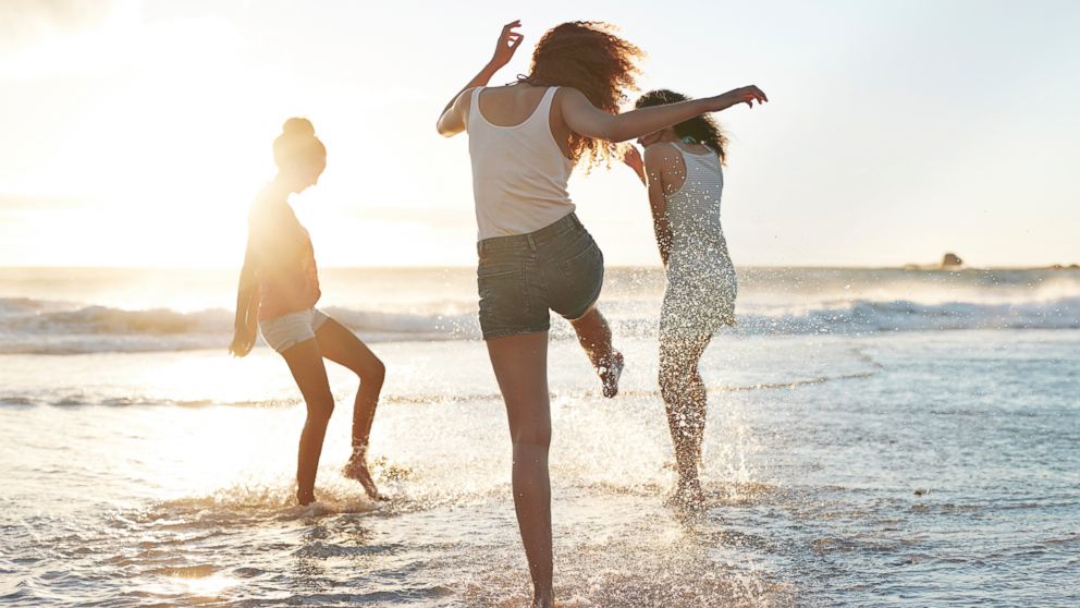
{"type": "MultiPolygon", "coordinates": [[[[294,504],[303,403],[230,357],[235,270],[0,269],[0,604],[527,605],[505,414],[467,268],[323,269],[388,366],[372,503],[294,504]]],[[[1080,271],[740,268],[702,360],[707,509],[675,478],[656,268],[609,268],[600,386],[553,319],[555,591],[569,606],[1080,605],[1080,271]]]]}

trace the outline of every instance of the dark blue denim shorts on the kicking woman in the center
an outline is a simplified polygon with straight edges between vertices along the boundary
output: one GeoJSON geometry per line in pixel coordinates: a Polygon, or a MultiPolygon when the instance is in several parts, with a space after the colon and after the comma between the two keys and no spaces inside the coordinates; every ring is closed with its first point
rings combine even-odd
{"type": "Polygon", "coordinates": [[[575,320],[600,297],[604,255],[577,216],[477,243],[483,339],[547,331],[549,311],[575,320]]]}

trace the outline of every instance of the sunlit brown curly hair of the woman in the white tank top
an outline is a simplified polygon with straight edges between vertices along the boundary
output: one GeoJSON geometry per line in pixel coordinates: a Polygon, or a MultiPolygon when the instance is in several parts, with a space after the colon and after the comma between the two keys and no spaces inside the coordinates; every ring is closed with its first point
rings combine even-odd
{"type": "MultiPolygon", "coordinates": [[[[580,90],[593,106],[616,114],[627,90],[636,90],[641,49],[619,38],[614,27],[597,21],[573,21],[549,29],[532,51],[532,65],[518,81],[533,86],[567,86],[580,90]]],[[[586,168],[610,163],[616,145],[577,133],[569,150],[586,168]]]]}

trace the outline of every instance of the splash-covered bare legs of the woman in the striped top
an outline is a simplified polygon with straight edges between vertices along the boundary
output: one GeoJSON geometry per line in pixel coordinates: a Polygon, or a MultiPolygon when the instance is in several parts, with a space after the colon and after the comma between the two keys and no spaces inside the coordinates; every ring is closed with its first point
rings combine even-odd
{"type": "Polygon", "coordinates": [[[686,507],[694,507],[703,498],[698,464],[704,438],[707,396],[698,362],[710,339],[705,335],[660,346],[660,392],[667,411],[679,476],[674,501],[686,507]]]}

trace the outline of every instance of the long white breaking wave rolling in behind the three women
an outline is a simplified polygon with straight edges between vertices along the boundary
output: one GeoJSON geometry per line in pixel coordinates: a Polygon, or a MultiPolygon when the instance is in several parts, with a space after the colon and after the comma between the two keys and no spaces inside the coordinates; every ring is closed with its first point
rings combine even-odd
{"type": "MultiPolygon", "coordinates": [[[[616,332],[654,336],[659,301],[613,299],[602,302],[616,332]],[[654,305],[653,305],[654,304],[654,305]]],[[[365,340],[478,340],[472,311],[381,312],[329,307],[326,311],[365,340]]],[[[1078,329],[1080,296],[1023,302],[945,302],[837,300],[803,306],[739,303],[736,336],[938,331],[970,329],[1078,329]]],[[[0,299],[0,353],[75,354],[224,349],[233,315],[223,308],[180,312],[131,311],[108,306],[25,297],[0,299]]],[[[568,337],[554,324],[556,338],[568,337]]]]}

